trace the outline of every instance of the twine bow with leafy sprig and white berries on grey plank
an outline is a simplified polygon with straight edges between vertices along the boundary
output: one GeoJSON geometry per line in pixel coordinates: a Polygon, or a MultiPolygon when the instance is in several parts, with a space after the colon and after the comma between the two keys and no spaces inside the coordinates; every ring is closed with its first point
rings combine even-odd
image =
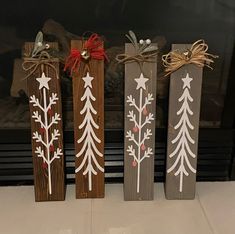
{"type": "Polygon", "coordinates": [[[132,45],[135,48],[135,54],[118,54],[116,56],[116,60],[118,63],[132,63],[137,62],[139,64],[144,62],[156,62],[156,56],[158,53],[158,48],[156,46],[151,45],[150,39],[140,40],[137,42],[137,38],[134,32],[129,31],[129,35],[126,34],[126,37],[130,40],[132,45]]]}

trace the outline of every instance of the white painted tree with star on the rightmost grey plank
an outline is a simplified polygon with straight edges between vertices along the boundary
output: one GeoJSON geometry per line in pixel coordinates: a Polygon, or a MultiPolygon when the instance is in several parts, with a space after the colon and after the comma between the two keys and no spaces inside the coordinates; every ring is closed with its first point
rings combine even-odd
{"type": "Polygon", "coordinates": [[[189,77],[187,73],[186,77],[182,78],[183,81],[183,94],[178,99],[182,103],[177,115],[181,115],[179,122],[174,126],[175,130],[178,130],[177,136],[171,141],[172,144],[176,144],[175,150],[169,155],[170,158],[174,158],[173,165],[167,170],[167,173],[172,172],[175,176],[180,176],[179,191],[183,191],[183,177],[188,176],[190,172],[196,173],[196,170],[190,163],[190,158],[195,158],[196,155],[190,149],[190,144],[194,144],[195,141],[190,135],[190,131],[194,129],[194,126],[190,122],[190,116],[193,115],[193,111],[190,109],[189,104],[193,102],[193,98],[190,95],[190,82],[193,79],[189,77]]]}

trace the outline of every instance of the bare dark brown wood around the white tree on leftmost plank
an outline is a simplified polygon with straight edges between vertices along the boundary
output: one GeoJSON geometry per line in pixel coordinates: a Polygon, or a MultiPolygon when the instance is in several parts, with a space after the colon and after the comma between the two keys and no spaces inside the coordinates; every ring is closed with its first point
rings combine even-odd
{"type": "MultiPolygon", "coordinates": [[[[29,54],[33,49],[34,43],[27,42],[24,46],[24,51],[29,54]]],[[[51,47],[58,48],[57,43],[50,43],[51,47]]],[[[27,58],[24,58],[27,61],[27,58]]],[[[58,74],[59,74],[59,60],[52,63],[55,66],[58,74]]],[[[34,168],[34,188],[35,188],[35,200],[36,201],[61,201],[65,199],[65,181],[64,181],[64,154],[63,154],[63,125],[62,125],[62,107],[61,107],[61,90],[60,90],[60,79],[57,79],[54,70],[48,66],[41,66],[27,78],[27,87],[28,87],[28,95],[29,97],[35,95],[36,98],[39,99],[40,104],[44,105],[43,100],[43,89],[39,89],[39,82],[36,78],[40,78],[42,76],[42,72],[45,73],[46,77],[50,77],[51,80],[48,82],[49,89],[46,89],[46,102],[49,103],[49,96],[52,93],[56,93],[58,95],[58,100],[55,104],[51,105],[50,110],[47,112],[48,116],[48,124],[52,121],[52,116],[55,113],[60,115],[61,120],[58,121],[58,124],[52,125],[48,129],[49,139],[52,137],[52,133],[57,129],[59,131],[60,136],[58,139],[53,141],[53,147],[50,147],[50,158],[53,157],[54,152],[57,149],[61,149],[62,155],[60,158],[55,159],[51,163],[51,194],[49,193],[49,180],[48,180],[48,168],[45,164],[43,164],[43,159],[38,157],[38,154],[35,153],[36,147],[41,147],[44,153],[46,154],[46,147],[40,143],[36,142],[33,139],[33,134],[37,131],[42,136],[42,140],[46,141],[46,133],[45,129],[41,128],[41,124],[39,122],[35,122],[35,119],[32,118],[35,111],[38,111],[42,116],[42,121],[45,121],[44,115],[42,111],[33,106],[33,103],[30,103],[30,116],[31,116],[31,133],[32,133],[32,155],[33,155],[33,168],[34,168]]],[[[25,74],[27,75],[27,73],[25,74]]],[[[24,77],[22,77],[24,78],[24,77]]]]}

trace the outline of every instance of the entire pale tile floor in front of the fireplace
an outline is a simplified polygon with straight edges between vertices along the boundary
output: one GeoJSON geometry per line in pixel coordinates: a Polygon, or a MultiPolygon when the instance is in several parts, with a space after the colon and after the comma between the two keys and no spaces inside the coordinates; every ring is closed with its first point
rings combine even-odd
{"type": "Polygon", "coordinates": [[[155,199],[123,201],[121,184],[106,185],[105,199],[34,202],[32,186],[0,187],[0,234],[235,234],[235,182],[197,183],[191,201],[169,201],[163,184],[155,199]]]}

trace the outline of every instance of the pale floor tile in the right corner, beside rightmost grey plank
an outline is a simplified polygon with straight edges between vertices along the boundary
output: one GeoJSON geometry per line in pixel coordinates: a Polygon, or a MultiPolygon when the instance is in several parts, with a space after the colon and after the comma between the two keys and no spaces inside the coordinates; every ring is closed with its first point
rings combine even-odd
{"type": "Polygon", "coordinates": [[[197,193],[215,234],[235,233],[235,182],[197,183],[197,193]]]}

